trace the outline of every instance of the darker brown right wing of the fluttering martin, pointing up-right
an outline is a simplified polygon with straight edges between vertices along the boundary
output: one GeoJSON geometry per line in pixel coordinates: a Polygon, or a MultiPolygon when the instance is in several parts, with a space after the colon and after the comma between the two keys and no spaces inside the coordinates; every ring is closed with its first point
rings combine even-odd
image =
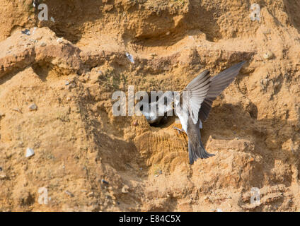
{"type": "Polygon", "coordinates": [[[230,83],[232,83],[245,62],[246,61],[235,64],[210,79],[210,87],[199,112],[199,118],[201,121],[206,121],[210,109],[212,109],[212,102],[216,100],[217,96],[220,95],[220,93],[222,93],[222,91],[225,90],[230,83]]]}

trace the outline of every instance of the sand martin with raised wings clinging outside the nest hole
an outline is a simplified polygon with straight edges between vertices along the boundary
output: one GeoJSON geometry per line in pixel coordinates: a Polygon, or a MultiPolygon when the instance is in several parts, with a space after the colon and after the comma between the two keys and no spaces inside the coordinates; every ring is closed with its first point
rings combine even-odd
{"type": "Polygon", "coordinates": [[[188,135],[190,164],[198,158],[213,156],[205,150],[200,136],[202,121],[205,121],[212,108],[212,102],[236,78],[245,61],[231,66],[217,76],[210,77],[203,71],[174,97],[175,112],[188,135]]]}

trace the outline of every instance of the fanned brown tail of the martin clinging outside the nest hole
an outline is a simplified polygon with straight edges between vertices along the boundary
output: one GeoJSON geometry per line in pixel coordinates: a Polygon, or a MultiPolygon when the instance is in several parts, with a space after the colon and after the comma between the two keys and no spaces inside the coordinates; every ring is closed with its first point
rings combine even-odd
{"type": "Polygon", "coordinates": [[[198,158],[212,157],[214,154],[209,154],[205,150],[200,139],[196,143],[188,141],[188,157],[190,159],[190,165],[192,165],[198,158]]]}

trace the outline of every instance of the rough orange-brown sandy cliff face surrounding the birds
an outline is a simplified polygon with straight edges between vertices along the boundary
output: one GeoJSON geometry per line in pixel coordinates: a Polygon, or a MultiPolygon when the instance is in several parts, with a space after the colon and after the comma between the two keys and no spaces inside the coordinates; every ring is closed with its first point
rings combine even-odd
{"type": "Polygon", "coordinates": [[[0,3],[1,211],[300,210],[299,1],[46,0],[48,21],[31,2],[0,3]],[[115,90],[242,60],[203,124],[215,157],[188,165],[174,117],[113,116],[115,90]]]}

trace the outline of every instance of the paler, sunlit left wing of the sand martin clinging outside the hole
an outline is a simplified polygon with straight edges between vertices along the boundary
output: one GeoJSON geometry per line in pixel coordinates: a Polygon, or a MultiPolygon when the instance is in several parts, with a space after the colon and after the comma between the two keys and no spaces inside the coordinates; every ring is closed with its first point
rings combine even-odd
{"type": "Polygon", "coordinates": [[[199,109],[209,91],[209,78],[209,71],[203,71],[183,90],[183,112],[189,112],[194,124],[198,121],[199,109]]]}

